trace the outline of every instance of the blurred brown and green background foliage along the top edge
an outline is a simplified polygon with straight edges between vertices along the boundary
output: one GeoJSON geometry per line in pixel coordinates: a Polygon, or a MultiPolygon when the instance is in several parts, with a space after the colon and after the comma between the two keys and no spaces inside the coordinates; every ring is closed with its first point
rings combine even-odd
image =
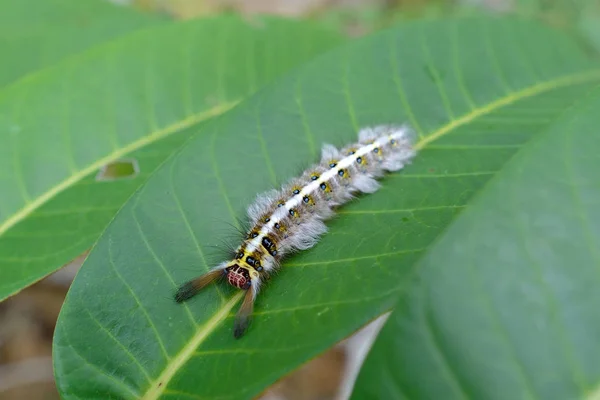
{"type": "Polygon", "coordinates": [[[599,0],[113,0],[176,19],[215,13],[312,18],[360,35],[410,18],[474,11],[517,14],[570,30],[600,50],[599,0]]]}

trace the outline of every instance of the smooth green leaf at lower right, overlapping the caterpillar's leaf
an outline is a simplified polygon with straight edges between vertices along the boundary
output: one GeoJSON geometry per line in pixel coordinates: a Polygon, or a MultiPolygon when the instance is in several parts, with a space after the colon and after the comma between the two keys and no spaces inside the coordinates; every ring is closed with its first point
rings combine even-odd
{"type": "Polygon", "coordinates": [[[353,398],[598,398],[599,109],[595,90],[440,236],[353,398]]]}

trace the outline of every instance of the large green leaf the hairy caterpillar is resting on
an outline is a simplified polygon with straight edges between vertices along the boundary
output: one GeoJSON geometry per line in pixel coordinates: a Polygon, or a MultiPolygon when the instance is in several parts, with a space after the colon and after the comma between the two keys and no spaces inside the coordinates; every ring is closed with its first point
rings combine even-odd
{"type": "Polygon", "coordinates": [[[410,23],[305,64],[211,121],[120,210],[90,253],[54,342],[65,398],[252,398],[390,309],[471,198],[557,113],[600,82],[566,36],[537,23],[410,23]],[[177,284],[221,260],[257,193],[359,127],[409,122],[421,150],[288,259],[233,339],[241,294],[177,284]]]}

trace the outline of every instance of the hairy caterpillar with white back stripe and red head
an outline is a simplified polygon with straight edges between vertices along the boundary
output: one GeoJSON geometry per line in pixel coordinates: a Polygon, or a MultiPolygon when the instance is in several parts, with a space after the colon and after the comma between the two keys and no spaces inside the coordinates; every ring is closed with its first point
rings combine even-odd
{"type": "Polygon", "coordinates": [[[324,223],[334,209],[355,193],[373,193],[378,178],[410,163],[416,151],[411,130],[380,125],[363,128],[358,142],[341,150],[322,147],[321,161],[292,179],[280,190],[258,195],[248,207],[250,230],[235,249],[231,260],[179,287],[175,301],[195,296],[207,285],[226,278],[230,285],[245,290],[234,324],[236,339],[246,332],[261,283],[279,268],[293,251],[313,247],[327,231],[324,223]]]}

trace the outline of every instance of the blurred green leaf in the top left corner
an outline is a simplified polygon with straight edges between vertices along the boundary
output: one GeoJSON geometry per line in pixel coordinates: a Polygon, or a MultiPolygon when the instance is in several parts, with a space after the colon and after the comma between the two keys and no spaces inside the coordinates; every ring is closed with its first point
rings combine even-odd
{"type": "Polygon", "coordinates": [[[0,90],[118,36],[165,21],[106,0],[0,0],[0,90]]]}

